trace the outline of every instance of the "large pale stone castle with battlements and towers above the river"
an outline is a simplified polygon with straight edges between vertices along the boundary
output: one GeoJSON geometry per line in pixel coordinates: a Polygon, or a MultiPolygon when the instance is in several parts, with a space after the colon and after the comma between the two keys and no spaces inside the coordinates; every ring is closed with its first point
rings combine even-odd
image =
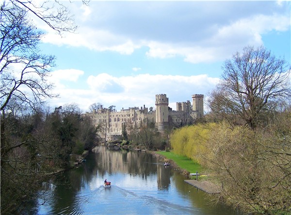
{"type": "Polygon", "coordinates": [[[144,119],[155,122],[158,130],[163,131],[166,125],[183,126],[193,122],[195,119],[204,115],[202,94],[192,95],[193,104],[190,101],[177,102],[176,109],[169,108],[169,98],[166,94],[156,95],[156,108],[145,107],[129,107],[129,109],[121,109],[120,111],[109,108],[101,108],[91,113],[85,113],[89,116],[95,125],[102,124],[100,137],[104,141],[122,138],[122,126],[132,125],[139,127],[144,119]]]}

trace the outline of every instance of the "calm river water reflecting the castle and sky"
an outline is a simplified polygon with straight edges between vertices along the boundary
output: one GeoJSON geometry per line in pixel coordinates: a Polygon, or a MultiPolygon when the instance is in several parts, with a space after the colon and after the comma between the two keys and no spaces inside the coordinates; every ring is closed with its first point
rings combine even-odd
{"type": "Polygon", "coordinates": [[[184,182],[152,154],[100,146],[78,168],[47,185],[30,214],[38,215],[235,215],[213,196],[184,182]],[[107,179],[112,183],[104,188],[107,179]]]}

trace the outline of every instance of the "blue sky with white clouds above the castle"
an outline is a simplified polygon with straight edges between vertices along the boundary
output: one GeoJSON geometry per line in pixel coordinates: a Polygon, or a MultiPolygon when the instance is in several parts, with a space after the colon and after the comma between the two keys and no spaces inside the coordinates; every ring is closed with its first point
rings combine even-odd
{"type": "MultiPolygon", "coordinates": [[[[245,46],[264,46],[291,62],[290,1],[80,1],[64,2],[76,33],[47,32],[41,49],[56,57],[50,81],[59,98],[50,107],[93,103],[155,107],[205,100],[224,61],[245,46]]],[[[207,108],[205,108],[207,109],[207,108]]]]}

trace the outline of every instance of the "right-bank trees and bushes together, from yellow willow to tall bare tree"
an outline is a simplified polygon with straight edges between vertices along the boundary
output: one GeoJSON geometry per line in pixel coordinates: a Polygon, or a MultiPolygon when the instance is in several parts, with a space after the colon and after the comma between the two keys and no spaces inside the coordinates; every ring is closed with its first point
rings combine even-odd
{"type": "Polygon", "coordinates": [[[173,151],[222,187],[218,200],[255,214],[291,211],[290,65],[263,47],[224,64],[205,123],[174,131],[173,151]]]}

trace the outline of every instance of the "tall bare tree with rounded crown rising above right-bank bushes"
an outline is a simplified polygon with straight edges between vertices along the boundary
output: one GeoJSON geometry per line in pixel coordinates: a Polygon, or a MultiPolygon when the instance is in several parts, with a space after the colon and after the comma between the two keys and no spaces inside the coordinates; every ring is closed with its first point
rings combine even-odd
{"type": "Polygon", "coordinates": [[[255,129],[260,117],[291,96],[291,66],[264,47],[245,47],[223,66],[221,82],[210,93],[208,106],[233,124],[255,129]]]}

